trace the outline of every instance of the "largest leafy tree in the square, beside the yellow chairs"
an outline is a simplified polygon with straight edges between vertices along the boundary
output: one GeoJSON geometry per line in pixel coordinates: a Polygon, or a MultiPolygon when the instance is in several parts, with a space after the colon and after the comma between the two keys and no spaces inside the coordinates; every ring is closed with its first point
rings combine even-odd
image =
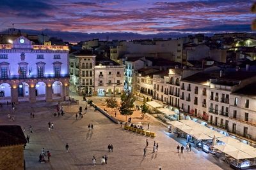
{"type": "Polygon", "coordinates": [[[123,93],[121,95],[121,106],[119,108],[119,111],[121,115],[126,116],[127,120],[127,115],[132,115],[133,113],[133,107],[134,107],[134,101],[136,101],[136,98],[132,96],[132,94],[125,94],[123,93]]]}

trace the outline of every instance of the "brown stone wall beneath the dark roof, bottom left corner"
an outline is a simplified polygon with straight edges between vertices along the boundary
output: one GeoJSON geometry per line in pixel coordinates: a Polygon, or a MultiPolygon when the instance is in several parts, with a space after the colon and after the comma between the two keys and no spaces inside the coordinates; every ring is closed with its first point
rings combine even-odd
{"type": "Polygon", "coordinates": [[[0,169],[24,169],[24,145],[0,147],[0,169]]]}

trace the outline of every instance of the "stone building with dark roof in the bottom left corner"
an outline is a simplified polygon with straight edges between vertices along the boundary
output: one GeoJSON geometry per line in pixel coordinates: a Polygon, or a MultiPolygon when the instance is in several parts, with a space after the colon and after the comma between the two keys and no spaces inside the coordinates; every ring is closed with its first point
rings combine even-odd
{"type": "Polygon", "coordinates": [[[25,169],[27,140],[19,125],[0,125],[0,169],[25,169]]]}

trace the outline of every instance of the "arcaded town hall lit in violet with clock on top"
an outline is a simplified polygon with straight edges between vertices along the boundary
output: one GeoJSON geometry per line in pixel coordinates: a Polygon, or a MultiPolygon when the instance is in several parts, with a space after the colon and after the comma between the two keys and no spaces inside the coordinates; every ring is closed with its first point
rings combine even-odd
{"type": "Polygon", "coordinates": [[[68,97],[68,46],[34,45],[20,36],[0,45],[0,101],[63,100],[68,97]]]}

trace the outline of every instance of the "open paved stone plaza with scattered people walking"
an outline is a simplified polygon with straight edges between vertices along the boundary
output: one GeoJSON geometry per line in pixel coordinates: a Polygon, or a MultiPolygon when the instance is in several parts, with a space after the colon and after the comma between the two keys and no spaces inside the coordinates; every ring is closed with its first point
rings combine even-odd
{"type": "MultiPolygon", "coordinates": [[[[84,108],[84,102],[81,101],[84,108]]],[[[30,143],[24,150],[26,169],[229,169],[227,164],[219,162],[211,155],[193,148],[192,152],[177,153],[180,145],[158,122],[150,124],[150,130],[157,137],[148,138],[147,156],[143,157],[145,136],[134,132],[124,131],[120,125],[113,124],[99,111],[93,108],[82,119],[76,120],[74,113],[79,106],[64,106],[63,117],[54,117],[56,103],[22,103],[17,106],[15,122],[8,121],[7,106],[0,108],[0,124],[18,124],[25,127],[29,134],[29,125],[34,133],[30,134],[30,143]],[[35,118],[30,118],[30,112],[35,118]],[[48,122],[53,122],[54,129],[49,132],[48,122]],[[88,131],[88,124],[93,124],[94,130],[88,131]],[[159,150],[152,153],[153,143],[159,144],[159,150]],[[69,151],[65,151],[68,143],[69,151]],[[108,144],[113,144],[113,153],[108,152],[108,144]],[[52,153],[51,162],[40,164],[39,154],[42,148],[52,153]],[[92,166],[95,155],[97,165],[92,166]],[[100,158],[108,156],[108,164],[101,165],[100,158]]],[[[146,127],[146,125],[145,125],[146,127]]]]}

